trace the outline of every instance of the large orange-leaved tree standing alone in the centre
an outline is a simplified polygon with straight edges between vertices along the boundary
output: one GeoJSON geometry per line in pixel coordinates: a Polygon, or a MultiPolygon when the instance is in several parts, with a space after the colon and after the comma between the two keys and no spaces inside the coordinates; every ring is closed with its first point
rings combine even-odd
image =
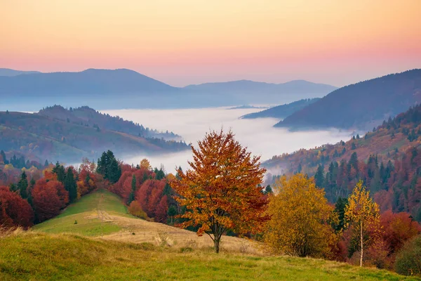
{"type": "Polygon", "coordinates": [[[178,226],[199,226],[197,234],[208,234],[218,253],[225,231],[262,230],[267,200],[259,184],[265,169],[260,168],[260,157],[252,157],[234,140],[232,131],[211,131],[198,144],[198,149],[192,147],[191,169],[180,169],[180,179],[170,184],[178,193],[175,200],[187,209],[179,216],[186,221],[178,226]]]}

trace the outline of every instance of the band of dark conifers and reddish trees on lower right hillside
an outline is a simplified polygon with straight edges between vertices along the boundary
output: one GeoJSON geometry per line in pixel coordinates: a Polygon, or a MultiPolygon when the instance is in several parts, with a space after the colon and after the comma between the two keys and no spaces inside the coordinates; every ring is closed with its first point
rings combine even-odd
{"type": "Polygon", "coordinates": [[[363,181],[382,211],[405,211],[421,221],[421,148],[411,148],[394,163],[381,162],[370,155],[367,163],[354,152],[348,162],[331,162],[328,170],[319,166],[314,175],[316,185],[326,190],[329,202],[347,197],[358,181],[363,181]]]}

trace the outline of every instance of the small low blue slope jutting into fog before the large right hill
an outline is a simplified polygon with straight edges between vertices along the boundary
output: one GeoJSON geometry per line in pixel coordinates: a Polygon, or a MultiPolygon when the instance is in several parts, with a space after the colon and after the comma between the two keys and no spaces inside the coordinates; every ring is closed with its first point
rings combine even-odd
{"type": "Polygon", "coordinates": [[[315,103],[319,99],[320,98],[309,98],[309,99],[297,100],[293,103],[288,103],[285,105],[278,105],[278,106],[268,108],[267,110],[250,113],[248,115],[242,116],[241,118],[242,119],[255,119],[255,118],[272,117],[272,118],[283,119],[285,117],[288,117],[289,115],[292,115],[294,112],[297,112],[298,110],[302,110],[302,108],[308,105],[311,105],[312,103],[315,103]]]}

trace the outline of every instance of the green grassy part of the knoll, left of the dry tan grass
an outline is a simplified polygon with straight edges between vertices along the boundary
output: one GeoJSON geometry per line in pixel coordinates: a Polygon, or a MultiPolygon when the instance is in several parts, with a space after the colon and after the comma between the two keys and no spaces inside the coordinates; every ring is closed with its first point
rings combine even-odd
{"type": "Polygon", "coordinates": [[[107,235],[121,230],[116,223],[107,220],[108,215],[131,217],[118,196],[107,190],[98,190],[81,197],[62,214],[34,226],[33,229],[45,233],[75,233],[86,236],[107,235]]]}

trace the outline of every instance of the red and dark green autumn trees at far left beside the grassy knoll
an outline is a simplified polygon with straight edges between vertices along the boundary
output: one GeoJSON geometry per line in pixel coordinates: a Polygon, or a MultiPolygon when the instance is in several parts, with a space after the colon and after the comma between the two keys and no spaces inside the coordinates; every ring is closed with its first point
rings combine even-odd
{"type": "Polygon", "coordinates": [[[0,187],[0,226],[28,228],[57,216],[102,183],[92,166],[95,164],[84,159],[79,171],[59,163],[36,169],[39,173],[29,170],[29,176],[24,169],[17,183],[0,187]]]}

